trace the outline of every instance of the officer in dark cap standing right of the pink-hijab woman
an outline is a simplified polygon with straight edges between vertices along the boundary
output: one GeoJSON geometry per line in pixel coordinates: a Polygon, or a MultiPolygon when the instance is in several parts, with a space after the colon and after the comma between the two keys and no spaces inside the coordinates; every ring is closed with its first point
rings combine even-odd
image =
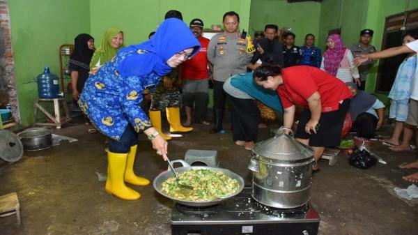
{"type": "MultiPolygon", "coordinates": [[[[370,41],[372,37],[373,37],[373,30],[363,29],[362,31],[360,31],[359,42],[350,48],[351,52],[353,52],[353,56],[377,52],[376,47],[373,47],[373,45],[370,45],[370,41]]],[[[362,85],[359,86],[360,90],[364,90],[364,87],[366,84],[367,73],[369,73],[369,69],[373,66],[373,63],[375,62],[376,61],[369,59],[369,61],[367,61],[366,63],[363,63],[361,66],[358,67],[360,79],[362,81],[362,85]]]]}

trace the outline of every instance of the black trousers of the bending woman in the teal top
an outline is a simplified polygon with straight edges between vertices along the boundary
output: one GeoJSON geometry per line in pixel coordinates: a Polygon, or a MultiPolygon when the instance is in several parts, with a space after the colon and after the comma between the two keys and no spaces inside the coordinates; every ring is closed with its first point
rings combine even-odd
{"type": "Polygon", "coordinates": [[[233,140],[256,142],[260,110],[256,100],[240,99],[229,96],[232,105],[233,140]]]}

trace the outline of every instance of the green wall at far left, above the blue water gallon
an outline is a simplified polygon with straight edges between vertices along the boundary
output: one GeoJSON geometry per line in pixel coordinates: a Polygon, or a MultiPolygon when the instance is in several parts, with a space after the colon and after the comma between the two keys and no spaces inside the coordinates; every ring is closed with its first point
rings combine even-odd
{"type": "Polygon", "coordinates": [[[8,5],[21,124],[29,126],[36,76],[45,66],[59,75],[59,47],[90,32],[90,7],[87,0],[11,0],[8,5]]]}

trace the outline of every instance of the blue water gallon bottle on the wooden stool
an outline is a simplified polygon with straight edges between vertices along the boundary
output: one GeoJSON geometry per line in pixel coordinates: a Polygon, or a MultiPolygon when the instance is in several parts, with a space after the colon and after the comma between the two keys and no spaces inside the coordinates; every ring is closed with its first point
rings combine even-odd
{"type": "Polygon", "coordinates": [[[38,80],[38,96],[42,99],[54,99],[60,95],[59,79],[49,71],[49,67],[45,67],[44,73],[36,77],[38,80]]]}

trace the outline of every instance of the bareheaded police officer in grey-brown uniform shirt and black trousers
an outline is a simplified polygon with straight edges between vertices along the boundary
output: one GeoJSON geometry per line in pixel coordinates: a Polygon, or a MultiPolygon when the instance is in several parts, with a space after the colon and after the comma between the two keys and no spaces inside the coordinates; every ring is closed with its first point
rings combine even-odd
{"type": "Polygon", "coordinates": [[[222,130],[226,93],[223,89],[226,79],[238,73],[245,73],[247,65],[251,61],[253,52],[251,37],[242,35],[238,31],[240,16],[233,12],[227,12],[223,17],[225,31],[217,33],[208,45],[208,60],[213,65],[213,114],[215,126],[210,133],[222,130]]]}

